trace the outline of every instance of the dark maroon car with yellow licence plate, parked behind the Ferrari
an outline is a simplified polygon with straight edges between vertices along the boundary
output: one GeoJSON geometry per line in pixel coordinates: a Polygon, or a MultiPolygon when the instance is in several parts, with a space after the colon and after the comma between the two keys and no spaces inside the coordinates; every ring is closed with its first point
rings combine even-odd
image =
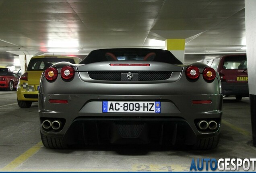
{"type": "Polygon", "coordinates": [[[207,62],[221,78],[223,96],[249,96],[246,54],[225,55],[207,62]]]}

